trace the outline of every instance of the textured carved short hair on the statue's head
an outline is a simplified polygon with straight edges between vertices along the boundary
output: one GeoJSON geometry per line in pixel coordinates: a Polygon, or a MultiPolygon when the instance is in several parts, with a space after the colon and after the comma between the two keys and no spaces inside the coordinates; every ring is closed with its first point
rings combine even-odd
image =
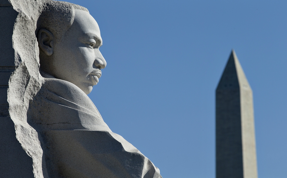
{"type": "Polygon", "coordinates": [[[46,29],[53,33],[56,42],[60,43],[65,32],[73,24],[75,9],[89,12],[85,7],[64,1],[48,1],[45,3],[37,21],[36,36],[39,29],[46,29]]]}

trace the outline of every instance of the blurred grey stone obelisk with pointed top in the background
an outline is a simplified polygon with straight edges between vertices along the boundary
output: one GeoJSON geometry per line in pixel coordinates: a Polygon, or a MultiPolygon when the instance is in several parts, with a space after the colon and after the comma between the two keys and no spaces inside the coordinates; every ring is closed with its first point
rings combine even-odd
{"type": "Polygon", "coordinates": [[[234,50],[216,89],[216,178],[257,178],[252,90],[234,50]]]}

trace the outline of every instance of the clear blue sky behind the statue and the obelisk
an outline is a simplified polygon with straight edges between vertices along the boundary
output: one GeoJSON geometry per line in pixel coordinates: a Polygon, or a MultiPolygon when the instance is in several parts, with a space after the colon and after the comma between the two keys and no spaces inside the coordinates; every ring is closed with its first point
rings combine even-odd
{"type": "Polygon", "coordinates": [[[287,175],[287,1],[95,1],[107,61],[89,97],[164,178],[215,177],[215,88],[234,48],[253,89],[258,175],[287,175]]]}

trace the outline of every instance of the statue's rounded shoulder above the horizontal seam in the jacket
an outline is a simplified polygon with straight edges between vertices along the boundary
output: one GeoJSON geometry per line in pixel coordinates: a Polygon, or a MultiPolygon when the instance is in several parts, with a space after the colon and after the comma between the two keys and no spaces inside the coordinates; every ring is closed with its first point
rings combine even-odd
{"type": "Polygon", "coordinates": [[[38,130],[110,131],[94,103],[80,88],[56,78],[43,78],[39,92],[30,101],[27,122],[38,130]]]}

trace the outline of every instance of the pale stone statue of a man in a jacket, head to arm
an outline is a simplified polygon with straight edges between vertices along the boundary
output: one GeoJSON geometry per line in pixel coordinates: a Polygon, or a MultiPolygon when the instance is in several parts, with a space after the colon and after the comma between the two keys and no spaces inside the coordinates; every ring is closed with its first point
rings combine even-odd
{"type": "Polygon", "coordinates": [[[88,10],[45,1],[35,34],[41,86],[27,122],[38,133],[43,172],[50,178],[161,178],[148,158],[110,130],[87,96],[106,67],[100,29],[88,10]]]}

